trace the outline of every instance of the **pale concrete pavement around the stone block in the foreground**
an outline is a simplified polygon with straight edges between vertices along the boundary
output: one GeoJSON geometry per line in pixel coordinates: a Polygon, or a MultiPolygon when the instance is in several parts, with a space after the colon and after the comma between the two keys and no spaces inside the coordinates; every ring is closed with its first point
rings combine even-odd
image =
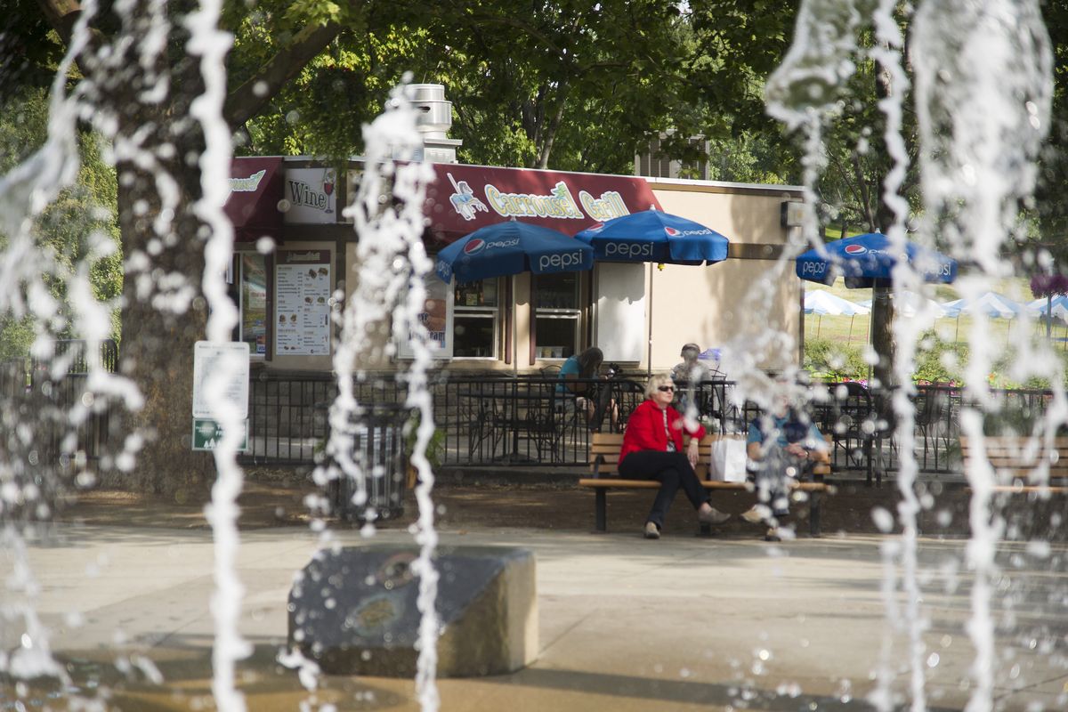
{"type": "MultiPolygon", "coordinates": [[[[664,538],[646,541],[638,525],[647,493],[616,499],[606,535],[587,531],[592,495],[564,494],[540,500],[561,506],[574,500],[575,510],[550,515],[527,490],[441,491],[443,544],[535,552],[541,651],[515,675],[440,680],[442,710],[869,710],[864,699],[884,669],[884,645],[893,692],[905,705],[907,630],[888,626],[880,592],[881,551],[897,539],[832,534],[767,544],[741,527],[698,538],[679,502],[664,538]],[[561,527],[561,521],[571,524],[561,527]]],[[[297,521],[299,495],[290,492],[292,510],[287,503],[273,512],[290,525],[260,522],[241,533],[240,628],[254,645],[238,671],[248,709],[299,710],[307,700],[315,710],[328,702],[337,710],[418,710],[411,680],[332,677],[309,693],[295,671],[274,663],[285,643],[293,573],[319,541],[297,521]]],[[[93,506],[76,508],[28,548],[41,587],[34,606],[52,630],[53,651],[68,663],[81,694],[110,689],[112,709],[211,709],[210,532],[198,523],[195,507],[171,507],[166,517],[128,503],[106,509],[98,504],[94,516],[93,506]],[[139,655],[159,669],[161,684],[146,680],[138,665],[152,668],[139,655]],[[119,673],[130,664],[129,678],[119,673]]],[[[331,536],[346,545],[361,542],[349,527],[331,536]]],[[[395,525],[373,540],[408,543],[410,535],[395,525]]],[[[0,575],[7,576],[10,555],[2,560],[0,575]]],[[[1068,709],[1068,550],[1006,543],[998,560],[1003,575],[993,618],[1012,621],[998,635],[998,709],[1068,709]]],[[[960,710],[971,694],[975,655],[965,633],[973,580],[964,542],[923,539],[918,561],[921,613],[929,619],[918,655],[928,709],[960,710]]],[[[19,644],[18,624],[3,627],[2,650],[19,644]]],[[[47,687],[29,693],[27,709],[57,706],[47,687]]],[[[13,686],[0,684],[0,694],[6,709],[13,686]]]]}

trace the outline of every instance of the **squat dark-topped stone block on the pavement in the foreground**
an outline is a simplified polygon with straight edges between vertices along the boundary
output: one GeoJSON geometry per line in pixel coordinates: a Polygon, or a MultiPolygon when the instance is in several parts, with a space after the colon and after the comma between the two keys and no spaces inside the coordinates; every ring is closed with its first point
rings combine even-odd
{"type": "MultiPolygon", "coordinates": [[[[321,551],[289,591],[289,644],[332,675],[411,677],[422,618],[415,547],[321,551]]],[[[534,555],[507,547],[442,547],[438,676],[514,673],[537,658],[534,555]]]]}

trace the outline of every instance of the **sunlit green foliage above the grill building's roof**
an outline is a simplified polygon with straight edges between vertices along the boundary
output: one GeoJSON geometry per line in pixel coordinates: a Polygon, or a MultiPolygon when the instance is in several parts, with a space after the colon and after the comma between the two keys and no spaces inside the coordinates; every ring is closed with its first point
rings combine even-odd
{"type": "MultiPolygon", "coordinates": [[[[303,15],[318,18],[305,4],[303,15]]],[[[672,128],[679,137],[666,145],[672,157],[704,158],[688,142],[702,133],[716,141],[716,177],[783,181],[775,133],[745,131],[770,127],[761,86],[786,45],[791,7],[713,1],[680,10],[671,0],[523,12],[502,0],[360,7],[246,125],[242,152],[361,154],[361,125],[410,73],[411,81],[445,85],[451,136],[462,140],[466,162],[629,174],[635,152],[672,128]]],[[[238,80],[280,42],[277,21],[262,4],[235,16],[238,80]]]]}

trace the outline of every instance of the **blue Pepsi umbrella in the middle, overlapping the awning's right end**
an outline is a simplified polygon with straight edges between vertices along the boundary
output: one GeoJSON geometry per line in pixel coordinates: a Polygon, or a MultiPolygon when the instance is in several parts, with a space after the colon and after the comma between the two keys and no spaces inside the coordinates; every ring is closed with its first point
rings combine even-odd
{"type": "Polygon", "coordinates": [[[660,210],[643,210],[587,227],[577,239],[597,259],[701,265],[727,258],[729,241],[701,223],[660,210]]]}

